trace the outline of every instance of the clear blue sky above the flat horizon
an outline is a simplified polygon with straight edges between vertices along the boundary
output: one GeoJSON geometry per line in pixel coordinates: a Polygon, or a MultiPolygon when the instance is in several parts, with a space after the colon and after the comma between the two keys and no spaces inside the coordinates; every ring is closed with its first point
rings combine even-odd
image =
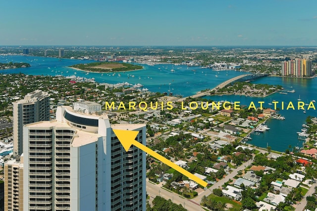
{"type": "Polygon", "coordinates": [[[0,45],[313,45],[317,0],[3,0],[0,45]]]}

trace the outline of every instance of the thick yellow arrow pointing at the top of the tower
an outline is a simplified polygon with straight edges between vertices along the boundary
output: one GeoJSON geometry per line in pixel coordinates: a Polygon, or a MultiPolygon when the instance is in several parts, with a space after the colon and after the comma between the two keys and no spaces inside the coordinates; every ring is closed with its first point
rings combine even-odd
{"type": "Polygon", "coordinates": [[[114,134],[118,137],[118,139],[121,142],[121,144],[122,144],[123,148],[125,149],[125,151],[128,151],[130,149],[131,145],[134,145],[134,146],[138,147],[139,149],[145,151],[149,155],[155,157],[156,159],[158,159],[162,163],[166,164],[167,166],[169,166],[169,167],[177,170],[178,172],[184,174],[185,176],[187,176],[191,180],[197,182],[198,184],[200,184],[200,185],[202,185],[204,187],[207,186],[208,183],[205,182],[204,180],[202,180],[201,178],[199,178],[198,176],[195,176],[191,172],[188,172],[187,170],[177,166],[176,164],[174,164],[170,160],[164,158],[163,156],[161,156],[158,153],[154,152],[150,148],[148,148],[148,147],[144,146],[143,144],[141,144],[140,142],[136,141],[135,137],[137,137],[139,131],[120,130],[120,129],[112,129],[112,130],[113,130],[114,134]]]}

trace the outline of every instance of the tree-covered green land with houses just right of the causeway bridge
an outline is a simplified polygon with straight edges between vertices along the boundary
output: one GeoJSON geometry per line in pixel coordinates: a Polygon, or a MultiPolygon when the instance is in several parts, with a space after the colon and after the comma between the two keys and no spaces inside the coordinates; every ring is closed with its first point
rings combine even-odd
{"type": "MultiPolygon", "coordinates": [[[[282,90],[281,85],[269,85],[269,84],[250,84],[247,82],[236,82],[232,85],[225,86],[215,91],[216,95],[245,95],[252,97],[266,97],[277,91],[282,90]]],[[[287,94],[286,92],[281,92],[287,94]]]]}

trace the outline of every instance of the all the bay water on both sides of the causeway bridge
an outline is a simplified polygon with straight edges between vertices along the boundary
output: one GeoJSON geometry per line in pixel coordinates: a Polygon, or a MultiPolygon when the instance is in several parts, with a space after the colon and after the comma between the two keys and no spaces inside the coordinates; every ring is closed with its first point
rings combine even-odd
{"type": "MultiPolygon", "coordinates": [[[[30,68],[21,68],[16,70],[5,70],[1,73],[25,73],[30,75],[62,75],[71,76],[76,75],[86,78],[95,78],[99,83],[122,83],[128,82],[130,84],[143,84],[144,87],[154,92],[173,92],[173,94],[180,94],[183,96],[189,96],[197,93],[200,90],[213,88],[216,85],[234,78],[238,75],[246,74],[239,71],[212,71],[211,69],[201,69],[200,67],[187,66],[174,66],[171,64],[160,64],[155,66],[143,65],[144,69],[139,71],[130,71],[120,73],[121,77],[116,73],[114,76],[111,74],[101,73],[89,73],[83,71],[74,70],[67,66],[79,63],[90,63],[94,61],[81,61],[70,59],[58,59],[47,57],[34,57],[34,56],[0,56],[0,62],[27,62],[31,64],[30,68]],[[171,70],[174,70],[172,72],[171,70]],[[134,77],[132,77],[132,75],[134,77]],[[216,77],[217,76],[217,77],[216,77]]],[[[240,101],[241,105],[249,105],[251,101],[265,101],[264,107],[271,107],[267,103],[273,100],[279,102],[284,101],[284,110],[280,110],[279,114],[285,116],[285,120],[270,119],[266,122],[266,125],[270,127],[270,130],[264,133],[254,133],[253,138],[249,143],[256,146],[266,147],[270,146],[273,150],[285,151],[288,146],[302,146],[302,141],[297,138],[296,131],[301,130],[302,124],[308,116],[317,116],[316,110],[307,110],[304,114],[303,110],[285,110],[289,101],[297,105],[297,99],[300,98],[305,103],[309,103],[315,99],[317,93],[317,79],[292,79],[292,78],[278,78],[278,77],[266,77],[259,79],[253,83],[257,84],[281,84],[285,90],[295,89],[295,93],[279,94],[275,93],[266,98],[246,97],[238,95],[230,96],[211,96],[206,97],[212,100],[227,100],[227,101],[240,101]]],[[[277,107],[280,104],[278,104],[277,107]]],[[[316,104],[315,104],[316,105],[316,104]]],[[[280,108],[281,109],[281,108],[280,108]]]]}

